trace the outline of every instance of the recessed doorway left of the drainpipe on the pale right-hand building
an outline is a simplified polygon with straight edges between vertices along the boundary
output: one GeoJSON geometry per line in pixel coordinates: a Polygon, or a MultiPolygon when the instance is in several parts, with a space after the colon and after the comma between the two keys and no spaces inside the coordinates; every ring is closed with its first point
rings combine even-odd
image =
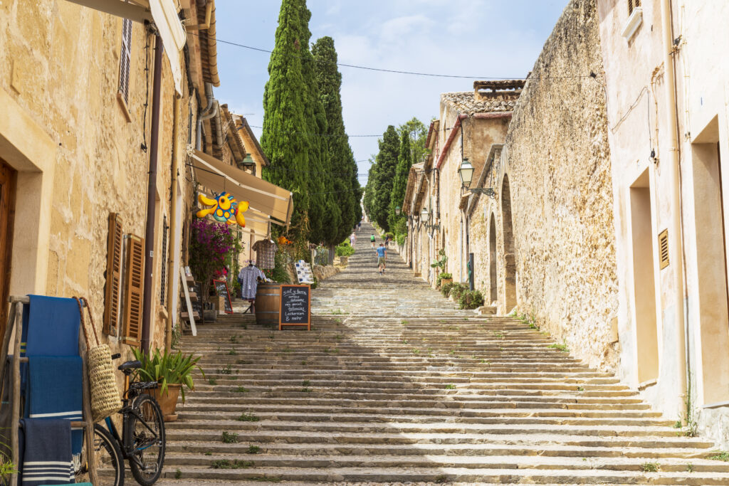
{"type": "Polygon", "coordinates": [[[633,321],[636,326],[638,381],[658,378],[658,327],[656,324],[653,219],[648,169],[630,187],[633,239],[633,321]]]}

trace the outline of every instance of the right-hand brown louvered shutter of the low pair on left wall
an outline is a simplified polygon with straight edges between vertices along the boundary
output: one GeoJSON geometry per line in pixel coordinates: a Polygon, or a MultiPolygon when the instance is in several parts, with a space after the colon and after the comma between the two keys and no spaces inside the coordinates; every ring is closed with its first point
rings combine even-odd
{"type": "Polygon", "coordinates": [[[129,235],[127,267],[125,270],[124,334],[122,342],[130,346],[139,346],[144,286],[144,238],[129,235]]]}

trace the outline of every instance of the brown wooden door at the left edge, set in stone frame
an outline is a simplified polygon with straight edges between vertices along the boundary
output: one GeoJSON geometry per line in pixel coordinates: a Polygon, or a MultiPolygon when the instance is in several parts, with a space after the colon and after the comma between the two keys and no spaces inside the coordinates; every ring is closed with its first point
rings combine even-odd
{"type": "Polygon", "coordinates": [[[16,183],[17,171],[0,159],[0,340],[4,337],[7,326],[16,183]]]}

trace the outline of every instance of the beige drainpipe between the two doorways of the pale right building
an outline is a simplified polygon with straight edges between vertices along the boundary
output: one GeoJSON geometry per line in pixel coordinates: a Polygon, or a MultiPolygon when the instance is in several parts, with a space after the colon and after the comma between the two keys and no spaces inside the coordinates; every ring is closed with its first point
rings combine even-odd
{"type": "Polygon", "coordinates": [[[686,323],[684,316],[684,279],[683,279],[683,248],[681,225],[681,187],[679,173],[679,137],[678,120],[676,112],[676,80],[674,78],[674,46],[673,29],[671,21],[671,5],[669,0],[660,1],[660,12],[663,20],[663,68],[666,72],[666,100],[668,101],[668,129],[666,133],[670,138],[668,146],[668,160],[671,164],[671,262],[674,262],[674,286],[676,294],[676,362],[678,367],[679,399],[682,402],[684,423],[690,410],[687,409],[687,364],[686,364],[686,323]],[[671,234],[672,233],[672,234],[671,234]]]}

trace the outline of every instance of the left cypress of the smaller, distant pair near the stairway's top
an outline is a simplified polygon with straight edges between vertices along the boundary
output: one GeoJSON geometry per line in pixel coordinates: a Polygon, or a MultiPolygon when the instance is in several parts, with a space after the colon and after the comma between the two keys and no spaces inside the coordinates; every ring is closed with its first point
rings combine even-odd
{"type": "Polygon", "coordinates": [[[400,141],[394,126],[389,125],[378,144],[380,152],[378,152],[377,161],[375,162],[372,214],[370,216],[383,230],[389,231],[390,225],[387,216],[389,215],[395,168],[397,168],[397,157],[400,150],[400,141]]]}

